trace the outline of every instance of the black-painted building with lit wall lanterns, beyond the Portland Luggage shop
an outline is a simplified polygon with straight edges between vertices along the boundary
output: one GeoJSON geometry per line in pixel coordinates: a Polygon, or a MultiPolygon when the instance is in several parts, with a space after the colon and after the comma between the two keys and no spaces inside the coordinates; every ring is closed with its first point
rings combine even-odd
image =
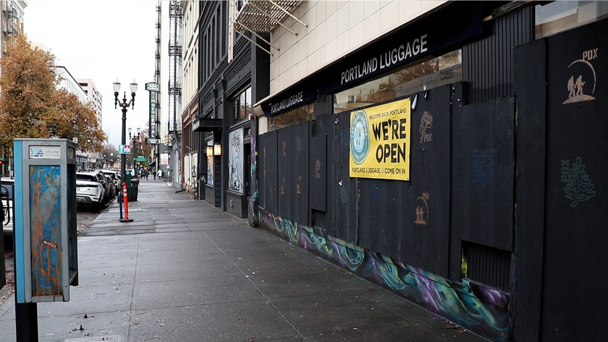
{"type": "Polygon", "coordinates": [[[256,37],[237,35],[229,61],[229,4],[201,4],[199,114],[193,122],[199,141],[200,198],[237,217],[257,220],[252,211],[257,194],[251,171],[255,146],[251,107],[268,96],[269,56],[247,40],[258,41],[256,37]]]}

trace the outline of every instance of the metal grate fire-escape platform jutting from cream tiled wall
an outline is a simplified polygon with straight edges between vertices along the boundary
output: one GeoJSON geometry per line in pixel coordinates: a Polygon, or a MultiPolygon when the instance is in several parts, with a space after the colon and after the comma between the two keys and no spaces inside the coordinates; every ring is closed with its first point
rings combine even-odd
{"type": "MultiPolygon", "coordinates": [[[[268,40],[265,40],[263,37],[260,37],[256,32],[267,32],[270,33],[274,31],[277,26],[282,26],[284,29],[289,32],[297,35],[294,31],[289,29],[289,27],[285,26],[283,23],[283,18],[285,16],[291,16],[295,21],[302,24],[305,27],[308,27],[305,23],[302,23],[300,19],[296,18],[291,14],[295,10],[296,7],[302,1],[282,1],[282,0],[249,0],[245,1],[243,8],[237,13],[237,16],[234,21],[234,30],[241,35],[241,30],[246,30],[251,32],[256,37],[263,40],[265,43],[274,47],[278,50],[277,47],[273,46],[268,40]]],[[[250,40],[248,37],[243,35],[243,37],[247,38],[249,41],[268,52],[272,55],[272,53],[264,47],[261,47],[259,44],[250,40]]]]}

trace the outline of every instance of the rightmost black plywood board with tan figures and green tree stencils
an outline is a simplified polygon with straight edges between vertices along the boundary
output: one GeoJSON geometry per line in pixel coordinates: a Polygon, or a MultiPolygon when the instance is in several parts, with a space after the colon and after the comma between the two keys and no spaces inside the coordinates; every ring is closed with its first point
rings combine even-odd
{"type": "Polygon", "coordinates": [[[598,327],[608,304],[607,28],[603,20],[547,38],[540,340],[606,338],[598,327]]]}

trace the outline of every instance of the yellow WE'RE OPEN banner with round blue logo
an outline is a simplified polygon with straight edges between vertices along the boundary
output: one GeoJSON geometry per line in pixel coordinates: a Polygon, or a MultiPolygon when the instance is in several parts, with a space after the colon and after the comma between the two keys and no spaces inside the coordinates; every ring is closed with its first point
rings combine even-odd
{"type": "Polygon", "coordinates": [[[349,176],[410,179],[410,99],[350,113],[349,176]]]}

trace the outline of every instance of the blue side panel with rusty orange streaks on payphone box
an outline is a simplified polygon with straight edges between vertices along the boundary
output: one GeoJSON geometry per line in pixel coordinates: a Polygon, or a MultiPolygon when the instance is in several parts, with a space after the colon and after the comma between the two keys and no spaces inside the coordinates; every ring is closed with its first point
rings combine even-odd
{"type": "Polygon", "coordinates": [[[61,169],[30,166],[32,296],[63,295],[61,169]]]}

